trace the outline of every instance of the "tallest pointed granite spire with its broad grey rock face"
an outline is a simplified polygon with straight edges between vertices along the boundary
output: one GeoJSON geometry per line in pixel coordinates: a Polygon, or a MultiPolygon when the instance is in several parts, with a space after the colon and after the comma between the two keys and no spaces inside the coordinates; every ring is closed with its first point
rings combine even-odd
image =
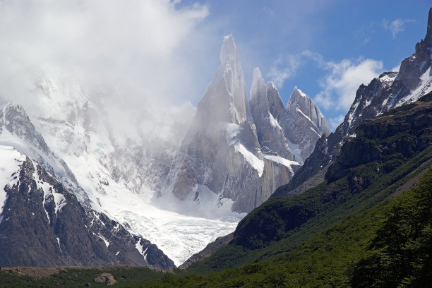
{"type": "Polygon", "coordinates": [[[234,200],[234,211],[246,212],[268,198],[264,179],[277,186],[277,178],[291,179],[292,168],[270,164],[261,152],[232,36],[224,38],[220,60],[164,190],[195,201],[210,190],[234,200]]]}

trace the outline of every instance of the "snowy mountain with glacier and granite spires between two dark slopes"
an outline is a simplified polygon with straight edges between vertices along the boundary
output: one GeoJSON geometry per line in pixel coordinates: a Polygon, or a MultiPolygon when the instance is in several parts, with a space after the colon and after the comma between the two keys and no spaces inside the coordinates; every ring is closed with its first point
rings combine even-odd
{"type": "MultiPolygon", "coordinates": [[[[292,178],[311,149],[302,150],[292,129],[304,130],[304,143],[328,133],[311,114],[313,103],[296,104],[301,113],[290,114],[272,83],[251,89],[248,100],[232,37],[224,38],[220,58],[196,109],[154,102],[125,107],[122,95],[142,91],[120,77],[84,85],[69,74],[23,69],[23,95],[9,99],[21,106],[6,104],[0,112],[6,127],[0,145],[22,152],[80,205],[123,224],[180,265],[234,231],[244,212],[292,178]],[[311,121],[296,127],[301,117],[311,121]],[[268,127],[270,137],[281,137],[266,138],[268,127]]],[[[254,87],[264,82],[258,74],[254,87]]]]}

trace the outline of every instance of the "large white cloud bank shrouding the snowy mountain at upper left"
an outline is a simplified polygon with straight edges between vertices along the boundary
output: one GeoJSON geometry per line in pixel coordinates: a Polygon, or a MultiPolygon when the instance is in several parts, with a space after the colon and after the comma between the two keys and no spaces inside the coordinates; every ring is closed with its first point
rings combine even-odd
{"type": "Polygon", "coordinates": [[[162,135],[167,107],[203,92],[193,83],[203,80],[208,14],[169,0],[0,0],[0,99],[38,115],[35,83],[64,94],[79,85],[113,133],[162,135]]]}

